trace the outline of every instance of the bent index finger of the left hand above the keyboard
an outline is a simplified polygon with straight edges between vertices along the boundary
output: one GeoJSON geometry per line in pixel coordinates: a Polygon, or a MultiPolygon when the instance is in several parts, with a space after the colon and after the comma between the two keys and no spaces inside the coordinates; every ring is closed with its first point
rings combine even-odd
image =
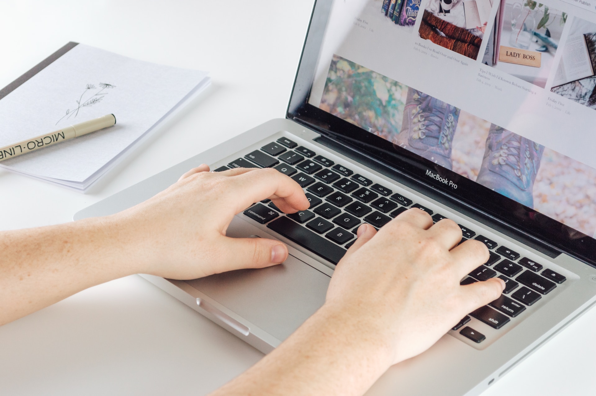
{"type": "Polygon", "coordinates": [[[265,198],[270,198],[285,213],[306,210],[311,205],[300,185],[275,169],[255,169],[233,179],[234,194],[227,197],[235,213],[265,198]]]}

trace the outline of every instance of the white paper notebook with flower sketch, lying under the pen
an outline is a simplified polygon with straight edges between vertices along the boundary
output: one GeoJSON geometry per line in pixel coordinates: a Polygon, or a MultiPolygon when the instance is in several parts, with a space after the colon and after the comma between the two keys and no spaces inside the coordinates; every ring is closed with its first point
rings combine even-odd
{"type": "Polygon", "coordinates": [[[205,71],[76,45],[0,100],[0,147],[110,113],[116,125],[0,166],[85,192],[209,83],[205,71]]]}

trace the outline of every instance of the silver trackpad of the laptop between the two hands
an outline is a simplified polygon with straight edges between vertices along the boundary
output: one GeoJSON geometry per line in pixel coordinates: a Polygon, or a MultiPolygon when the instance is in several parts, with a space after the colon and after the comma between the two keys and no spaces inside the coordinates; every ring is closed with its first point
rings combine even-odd
{"type": "Polygon", "coordinates": [[[330,280],[289,255],[277,266],[225,272],[187,283],[283,341],[325,302],[330,280]]]}

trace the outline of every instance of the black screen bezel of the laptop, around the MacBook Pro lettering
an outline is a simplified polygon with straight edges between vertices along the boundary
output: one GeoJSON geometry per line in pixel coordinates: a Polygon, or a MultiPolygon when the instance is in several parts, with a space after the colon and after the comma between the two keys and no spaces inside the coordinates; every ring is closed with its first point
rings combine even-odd
{"type": "Polygon", "coordinates": [[[425,185],[438,189],[469,207],[476,208],[596,267],[596,239],[591,236],[309,104],[308,98],[332,4],[333,0],[315,1],[286,118],[302,123],[358,151],[364,151],[386,166],[415,177],[425,185]],[[452,180],[457,184],[457,189],[446,187],[443,183],[431,179],[426,175],[427,170],[452,180]]]}

